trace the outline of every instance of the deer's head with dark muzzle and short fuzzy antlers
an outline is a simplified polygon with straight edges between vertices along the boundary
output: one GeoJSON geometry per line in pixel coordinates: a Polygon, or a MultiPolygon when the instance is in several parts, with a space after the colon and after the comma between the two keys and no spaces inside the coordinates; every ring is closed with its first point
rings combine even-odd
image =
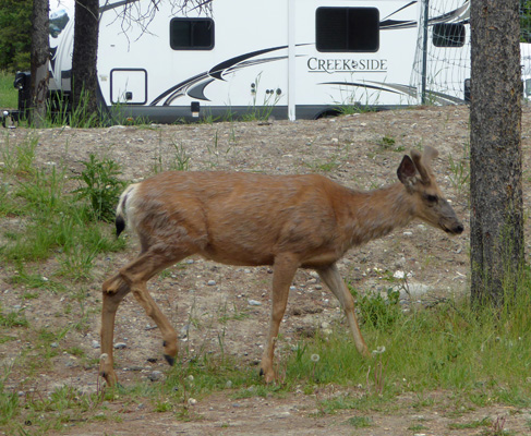
{"type": "Polygon", "coordinates": [[[405,156],[400,162],[398,179],[413,197],[417,218],[447,233],[459,234],[463,226],[443,196],[432,171],[431,162],[437,155],[438,152],[430,146],[423,154],[412,150],[411,157],[405,156]]]}

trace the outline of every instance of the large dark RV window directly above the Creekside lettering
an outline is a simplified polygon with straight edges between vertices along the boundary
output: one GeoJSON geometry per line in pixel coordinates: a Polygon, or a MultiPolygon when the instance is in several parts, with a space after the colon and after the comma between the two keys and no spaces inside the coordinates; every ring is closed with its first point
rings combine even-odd
{"type": "Polygon", "coordinates": [[[318,8],[315,24],[318,51],[378,51],[376,8],[318,8]]]}

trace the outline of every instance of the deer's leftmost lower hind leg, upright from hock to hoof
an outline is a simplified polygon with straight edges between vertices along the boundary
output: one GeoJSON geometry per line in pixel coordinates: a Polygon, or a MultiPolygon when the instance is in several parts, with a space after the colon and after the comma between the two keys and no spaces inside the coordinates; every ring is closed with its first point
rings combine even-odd
{"type": "Polygon", "coordinates": [[[131,291],[129,284],[120,274],[106,280],[102,284],[102,307],[101,307],[101,355],[99,360],[99,375],[105,378],[107,385],[114,386],[118,377],[113,368],[113,337],[114,318],[118,306],[123,298],[131,291]]]}

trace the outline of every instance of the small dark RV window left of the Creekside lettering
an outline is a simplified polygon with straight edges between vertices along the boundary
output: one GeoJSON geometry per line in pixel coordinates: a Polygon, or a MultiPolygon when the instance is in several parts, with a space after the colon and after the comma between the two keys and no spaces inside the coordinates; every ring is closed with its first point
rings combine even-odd
{"type": "Polygon", "coordinates": [[[170,46],[173,50],[212,50],[212,19],[173,19],[170,22],[170,46]]]}

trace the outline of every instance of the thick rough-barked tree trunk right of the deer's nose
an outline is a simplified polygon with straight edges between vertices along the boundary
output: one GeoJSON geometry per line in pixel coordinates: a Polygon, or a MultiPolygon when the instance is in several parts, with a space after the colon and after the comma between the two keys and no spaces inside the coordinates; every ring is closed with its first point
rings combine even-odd
{"type": "Polygon", "coordinates": [[[470,3],[471,296],[499,305],[523,266],[519,0],[470,3]]]}

